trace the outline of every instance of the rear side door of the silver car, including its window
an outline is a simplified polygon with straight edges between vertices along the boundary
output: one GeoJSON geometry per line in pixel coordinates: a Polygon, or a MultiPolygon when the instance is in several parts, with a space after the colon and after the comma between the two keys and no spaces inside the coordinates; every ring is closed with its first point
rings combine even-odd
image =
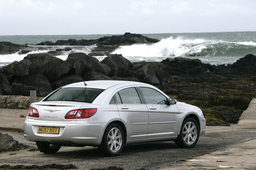
{"type": "Polygon", "coordinates": [[[122,122],[126,126],[127,140],[147,138],[148,110],[135,87],[119,89],[114,94],[122,122]]]}

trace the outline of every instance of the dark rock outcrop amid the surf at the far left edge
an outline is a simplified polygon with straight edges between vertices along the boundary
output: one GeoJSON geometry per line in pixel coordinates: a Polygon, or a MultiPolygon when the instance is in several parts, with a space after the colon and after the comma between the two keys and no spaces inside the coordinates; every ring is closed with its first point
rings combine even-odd
{"type": "Polygon", "coordinates": [[[27,47],[26,45],[19,45],[10,42],[1,41],[0,42],[0,54],[13,54],[27,47]]]}

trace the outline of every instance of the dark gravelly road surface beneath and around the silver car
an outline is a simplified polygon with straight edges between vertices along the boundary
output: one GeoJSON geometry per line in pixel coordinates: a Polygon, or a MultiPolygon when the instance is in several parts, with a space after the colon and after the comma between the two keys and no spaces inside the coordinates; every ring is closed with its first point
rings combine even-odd
{"type": "MultiPolygon", "coordinates": [[[[13,138],[19,141],[23,138],[22,135],[22,133],[16,133],[16,135],[14,133],[13,138]]],[[[256,128],[208,126],[206,133],[199,137],[198,144],[194,148],[181,149],[172,141],[147,143],[125,146],[118,157],[104,157],[99,153],[97,147],[88,146],[83,148],[62,147],[55,154],[43,154],[39,151],[29,151],[31,148],[36,150],[33,143],[24,143],[30,145],[30,148],[0,153],[0,165],[49,165],[55,163],[72,164],[79,169],[116,166],[125,170],[140,168],[151,170],[255,138],[256,128]]]]}

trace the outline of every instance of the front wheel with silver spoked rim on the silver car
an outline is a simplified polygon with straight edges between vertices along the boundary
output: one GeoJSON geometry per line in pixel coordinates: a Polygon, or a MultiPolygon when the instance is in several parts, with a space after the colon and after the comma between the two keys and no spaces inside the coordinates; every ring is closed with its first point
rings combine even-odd
{"type": "Polygon", "coordinates": [[[182,123],[180,134],[175,143],[181,148],[192,148],[198,141],[199,133],[198,122],[193,118],[186,118],[182,123]]]}

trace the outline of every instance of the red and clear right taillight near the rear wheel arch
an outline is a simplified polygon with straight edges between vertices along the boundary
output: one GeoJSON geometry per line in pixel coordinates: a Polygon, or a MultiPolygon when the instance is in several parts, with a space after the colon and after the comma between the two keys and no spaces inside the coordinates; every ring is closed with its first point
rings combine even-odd
{"type": "Polygon", "coordinates": [[[97,112],[97,108],[79,109],[69,111],[65,119],[83,119],[90,118],[97,112]]]}

